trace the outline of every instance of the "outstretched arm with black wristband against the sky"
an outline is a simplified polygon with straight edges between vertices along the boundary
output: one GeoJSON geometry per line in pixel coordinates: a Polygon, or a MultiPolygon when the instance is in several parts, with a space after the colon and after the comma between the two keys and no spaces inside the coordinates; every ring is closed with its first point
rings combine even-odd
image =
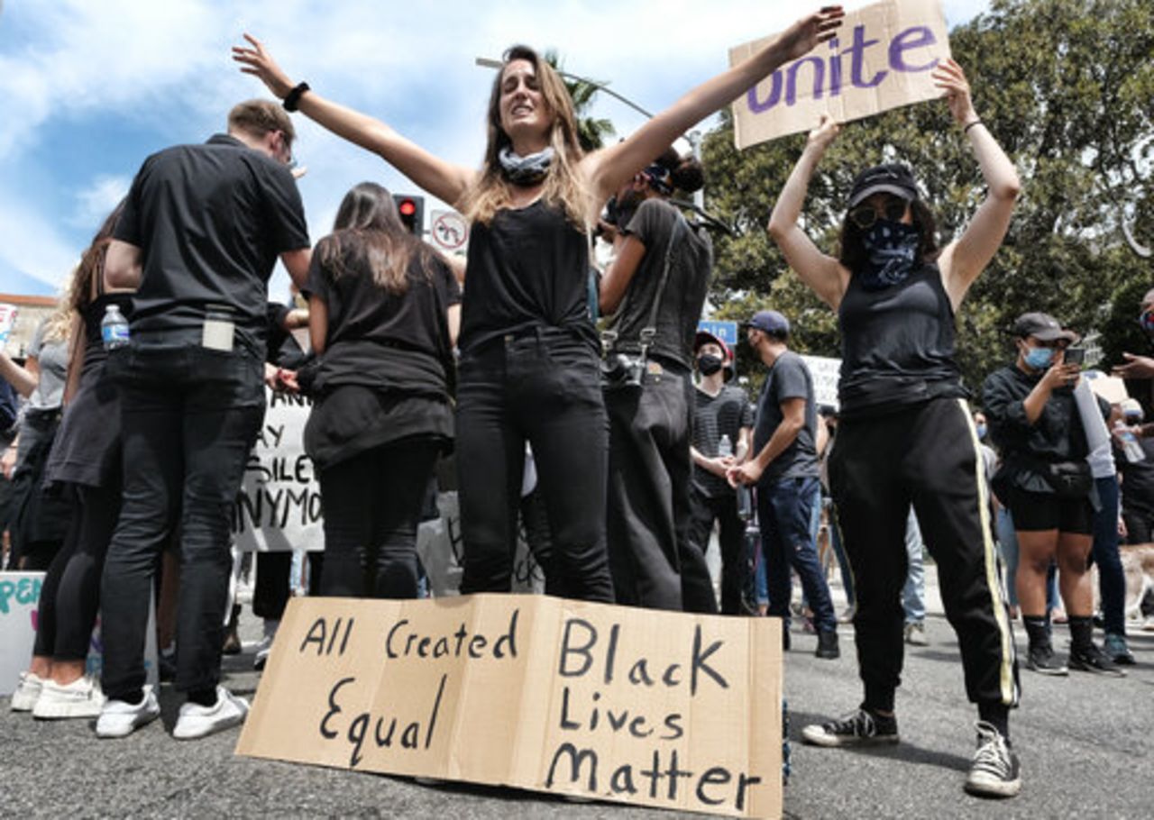
{"type": "MultiPolygon", "coordinates": [[[[250,35],[245,35],[245,39],[250,48],[233,46],[232,50],[232,59],[242,66],[240,70],[258,77],[277,99],[287,97],[297,83],[260,40],[250,35]]],[[[477,173],[433,156],[380,120],[324,99],[315,91],[306,91],[300,97],[298,110],[337,136],[379,155],[422,190],[450,205],[460,200],[477,173]]]]}

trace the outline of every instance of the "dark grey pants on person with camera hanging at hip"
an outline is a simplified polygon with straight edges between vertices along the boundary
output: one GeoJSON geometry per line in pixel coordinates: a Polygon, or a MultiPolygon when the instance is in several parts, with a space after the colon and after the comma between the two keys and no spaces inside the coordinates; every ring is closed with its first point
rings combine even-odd
{"type": "Polygon", "coordinates": [[[609,413],[609,565],[617,603],[717,612],[705,556],[689,536],[694,384],[660,362],[642,386],[605,391],[609,413]]]}

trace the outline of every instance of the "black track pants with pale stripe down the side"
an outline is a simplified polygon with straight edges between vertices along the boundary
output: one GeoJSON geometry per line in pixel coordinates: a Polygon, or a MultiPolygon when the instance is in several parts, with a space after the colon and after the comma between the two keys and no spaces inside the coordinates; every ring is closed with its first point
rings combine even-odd
{"type": "Polygon", "coordinates": [[[900,683],[911,503],[937,563],[969,699],[1018,701],[1018,663],[977,447],[961,399],[841,420],[830,456],[830,484],[854,573],[857,664],[871,708],[892,709],[900,683]]]}

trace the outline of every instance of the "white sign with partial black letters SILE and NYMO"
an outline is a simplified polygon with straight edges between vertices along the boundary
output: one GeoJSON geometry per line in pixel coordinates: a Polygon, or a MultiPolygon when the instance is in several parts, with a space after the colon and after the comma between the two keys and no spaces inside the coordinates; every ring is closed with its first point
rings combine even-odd
{"type": "Polygon", "coordinates": [[[264,423],[233,507],[237,548],[323,549],[321,487],[304,443],[312,400],[268,388],[265,398],[264,423]]]}

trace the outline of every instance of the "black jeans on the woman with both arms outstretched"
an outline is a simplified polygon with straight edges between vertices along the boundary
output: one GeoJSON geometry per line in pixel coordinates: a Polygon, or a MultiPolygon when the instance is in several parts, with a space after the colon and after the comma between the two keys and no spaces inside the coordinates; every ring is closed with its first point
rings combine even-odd
{"type": "Polygon", "coordinates": [[[525,442],[568,597],[613,601],[605,547],[608,422],[600,364],[564,331],[505,337],[466,353],[457,389],[457,474],[465,567],[460,590],[509,592],[525,442]]]}

